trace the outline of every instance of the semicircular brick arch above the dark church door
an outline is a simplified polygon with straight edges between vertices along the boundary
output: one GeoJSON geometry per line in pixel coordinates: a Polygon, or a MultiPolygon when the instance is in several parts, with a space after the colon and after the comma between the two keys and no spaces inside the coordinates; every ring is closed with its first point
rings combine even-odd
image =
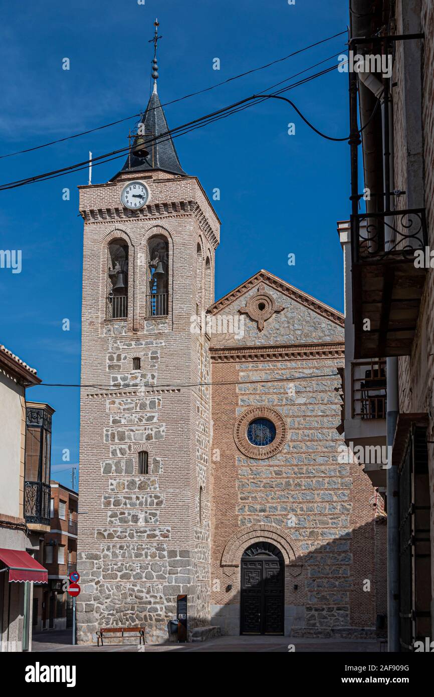
{"type": "Polygon", "coordinates": [[[275,525],[250,525],[240,528],[226,542],[222,567],[239,567],[242,553],[254,542],[272,542],[281,549],[285,565],[300,564],[301,552],[288,530],[275,525]]]}

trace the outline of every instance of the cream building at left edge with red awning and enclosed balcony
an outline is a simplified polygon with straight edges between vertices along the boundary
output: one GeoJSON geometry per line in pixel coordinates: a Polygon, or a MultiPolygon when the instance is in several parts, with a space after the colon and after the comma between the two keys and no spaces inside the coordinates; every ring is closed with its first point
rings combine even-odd
{"type": "Polygon", "coordinates": [[[39,383],[36,369],[0,346],[0,652],[31,651],[32,610],[47,585],[40,553],[54,410],[26,402],[39,383]]]}

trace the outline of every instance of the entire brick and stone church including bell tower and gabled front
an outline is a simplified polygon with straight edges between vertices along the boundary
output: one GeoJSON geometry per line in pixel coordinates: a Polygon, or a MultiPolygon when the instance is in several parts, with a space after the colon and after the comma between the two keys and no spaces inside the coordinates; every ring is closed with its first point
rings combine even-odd
{"type": "MultiPolygon", "coordinates": [[[[84,220],[77,599],[101,627],[371,638],[385,526],[339,458],[340,312],[266,270],[215,300],[220,221],[154,88],[84,220]]],[[[240,279],[241,280],[241,279],[240,279]]]]}

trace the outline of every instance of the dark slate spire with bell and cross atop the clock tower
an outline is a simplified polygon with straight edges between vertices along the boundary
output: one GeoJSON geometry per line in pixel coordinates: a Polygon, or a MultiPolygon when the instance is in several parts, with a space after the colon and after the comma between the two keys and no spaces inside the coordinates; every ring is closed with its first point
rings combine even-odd
{"type": "Polygon", "coordinates": [[[128,155],[125,164],[121,171],[150,171],[152,169],[162,169],[164,171],[171,172],[172,174],[182,174],[185,175],[185,171],[180,165],[178,158],[178,153],[173,145],[173,140],[170,135],[163,135],[161,139],[153,140],[155,136],[162,135],[169,130],[167,125],[166,116],[164,116],[164,111],[160,102],[160,97],[157,92],[157,79],[158,75],[158,64],[157,64],[157,43],[158,39],[162,36],[158,36],[158,26],[160,26],[158,20],[154,22],[155,33],[149,43],[154,45],[154,57],[152,61],[152,77],[154,80],[153,93],[150,95],[150,100],[148,106],[146,107],[146,112],[141,117],[139,125],[137,126],[137,132],[139,135],[143,135],[145,141],[149,140],[146,148],[149,151],[149,155],[146,158],[137,158],[134,153],[134,145],[137,142],[137,137],[134,139],[132,144],[132,151],[128,155]]]}

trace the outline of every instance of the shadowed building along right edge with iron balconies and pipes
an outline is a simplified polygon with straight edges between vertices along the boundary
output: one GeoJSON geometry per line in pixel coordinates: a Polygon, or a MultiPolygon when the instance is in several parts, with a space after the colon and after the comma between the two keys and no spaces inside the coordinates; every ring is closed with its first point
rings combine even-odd
{"type": "MultiPolygon", "coordinates": [[[[375,394],[387,392],[386,472],[369,475],[386,493],[389,651],[412,651],[434,631],[434,6],[354,0],[352,10],[350,48],[392,70],[378,61],[350,75],[352,216],[341,226],[352,298],[345,379],[348,388],[350,365],[371,363],[369,385],[363,376],[368,401],[373,378],[375,394]]],[[[380,430],[378,418],[365,421],[366,443],[384,437],[380,430]]]]}

